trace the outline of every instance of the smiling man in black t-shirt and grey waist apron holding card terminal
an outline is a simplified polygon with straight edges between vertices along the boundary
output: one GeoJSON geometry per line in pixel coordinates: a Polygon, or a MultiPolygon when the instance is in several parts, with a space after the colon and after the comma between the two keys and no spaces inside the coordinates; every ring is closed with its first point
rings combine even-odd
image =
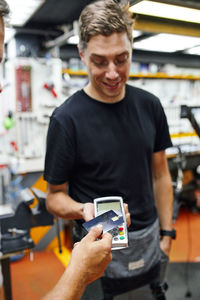
{"type": "MultiPolygon", "coordinates": [[[[106,300],[155,299],[150,286],[157,297],[160,258],[167,260],[171,244],[165,149],[172,144],[159,99],[127,84],[132,29],[128,7],[117,1],[84,8],[78,48],[89,82],[53,112],[47,137],[47,209],[76,220],[75,241],[94,217],[94,198],[121,196],[128,204],[129,248],[112,253],[101,281],[106,300]]],[[[99,281],[89,286],[83,299],[102,300],[100,287],[99,281]]]]}

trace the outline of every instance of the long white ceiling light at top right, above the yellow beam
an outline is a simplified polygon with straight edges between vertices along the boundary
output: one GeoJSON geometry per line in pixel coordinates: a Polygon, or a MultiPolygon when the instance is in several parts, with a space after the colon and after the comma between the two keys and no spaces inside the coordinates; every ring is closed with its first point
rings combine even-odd
{"type": "Polygon", "coordinates": [[[200,23],[200,10],[172,4],[143,0],[129,10],[136,14],[200,23]]]}

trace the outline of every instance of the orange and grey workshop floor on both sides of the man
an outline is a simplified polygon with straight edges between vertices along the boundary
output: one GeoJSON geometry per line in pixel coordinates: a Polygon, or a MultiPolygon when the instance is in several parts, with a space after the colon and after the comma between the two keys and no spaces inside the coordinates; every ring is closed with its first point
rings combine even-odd
{"type": "MultiPolygon", "coordinates": [[[[173,241],[168,266],[167,300],[200,299],[200,213],[193,214],[182,210],[174,224],[177,240],[173,241]],[[189,290],[192,297],[185,297],[189,290]]],[[[49,251],[28,255],[11,263],[13,300],[41,300],[55,285],[65,266],[58,257],[49,251]]],[[[0,300],[3,300],[0,289],[0,300]]],[[[131,299],[132,300],[132,299],[131,299]]],[[[137,299],[133,299],[137,300],[137,299]]],[[[146,300],[146,299],[143,299],[146,300]]]]}

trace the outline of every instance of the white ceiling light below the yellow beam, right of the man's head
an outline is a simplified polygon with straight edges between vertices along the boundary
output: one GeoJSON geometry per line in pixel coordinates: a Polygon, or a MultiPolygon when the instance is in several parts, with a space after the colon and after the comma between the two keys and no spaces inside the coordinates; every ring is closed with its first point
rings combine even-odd
{"type": "Polygon", "coordinates": [[[160,33],[135,42],[133,47],[135,49],[148,51],[175,52],[192,48],[197,45],[200,45],[200,38],[160,33]]]}

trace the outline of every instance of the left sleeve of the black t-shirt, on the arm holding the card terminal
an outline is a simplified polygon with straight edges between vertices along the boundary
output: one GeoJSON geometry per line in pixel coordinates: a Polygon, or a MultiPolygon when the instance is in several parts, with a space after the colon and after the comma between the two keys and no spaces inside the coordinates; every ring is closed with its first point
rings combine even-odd
{"type": "Polygon", "coordinates": [[[52,116],[47,133],[44,179],[55,185],[69,181],[74,161],[72,135],[52,116]]]}

